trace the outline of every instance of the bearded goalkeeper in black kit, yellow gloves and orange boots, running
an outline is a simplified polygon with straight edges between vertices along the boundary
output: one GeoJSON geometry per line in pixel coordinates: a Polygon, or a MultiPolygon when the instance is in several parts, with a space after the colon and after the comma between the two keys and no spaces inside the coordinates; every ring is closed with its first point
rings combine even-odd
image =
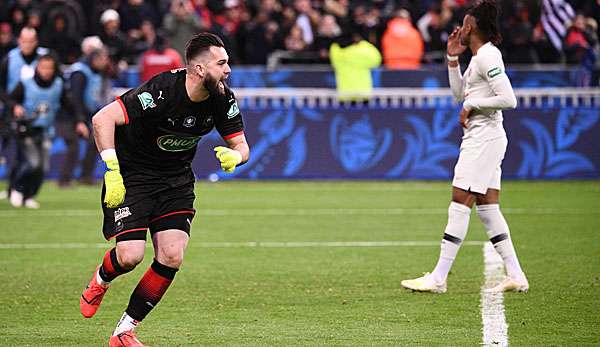
{"type": "Polygon", "coordinates": [[[154,245],[154,260],[119,320],[110,346],[143,346],[134,328],[160,301],[173,281],[194,218],[192,159],[196,144],[216,128],[226,147],[216,159],[226,172],[246,162],[249,147],[233,92],[225,85],[231,69],[221,39],[200,33],[186,46],[186,69],[153,77],[105,106],[92,120],[96,145],[106,165],[102,188],[103,233],[116,246],[83,291],[81,313],[92,317],[111,282],[133,270],[154,245]]]}

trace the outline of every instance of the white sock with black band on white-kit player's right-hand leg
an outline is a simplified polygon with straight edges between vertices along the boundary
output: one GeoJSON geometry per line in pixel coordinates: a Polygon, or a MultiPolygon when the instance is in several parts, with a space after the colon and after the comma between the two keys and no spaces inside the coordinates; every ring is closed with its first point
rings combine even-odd
{"type": "Polygon", "coordinates": [[[477,206],[477,215],[485,226],[485,230],[494,248],[504,260],[506,274],[515,280],[525,280],[525,274],[517,259],[517,253],[510,239],[508,224],[500,212],[498,204],[477,206]]]}

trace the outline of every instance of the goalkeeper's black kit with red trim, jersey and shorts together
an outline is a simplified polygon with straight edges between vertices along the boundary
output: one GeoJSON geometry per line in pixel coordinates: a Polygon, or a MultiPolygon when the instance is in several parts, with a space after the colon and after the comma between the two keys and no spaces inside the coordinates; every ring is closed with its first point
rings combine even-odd
{"type": "MultiPolygon", "coordinates": [[[[196,145],[213,128],[224,139],[244,132],[229,88],[225,95],[192,102],[185,76],[185,69],[164,72],[117,98],[125,125],[115,129],[115,149],[126,194],[117,208],[103,204],[107,240],[145,240],[148,229],[189,233],[195,213],[196,145]]],[[[102,200],[104,193],[103,187],[102,200]]]]}

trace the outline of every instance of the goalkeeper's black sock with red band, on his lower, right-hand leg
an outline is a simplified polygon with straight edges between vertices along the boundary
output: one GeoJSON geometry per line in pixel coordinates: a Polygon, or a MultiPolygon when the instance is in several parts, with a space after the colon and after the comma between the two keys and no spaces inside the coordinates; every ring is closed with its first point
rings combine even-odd
{"type": "Polygon", "coordinates": [[[165,294],[178,269],[159,263],[156,259],[131,294],[125,311],[137,321],[143,320],[165,294]]]}

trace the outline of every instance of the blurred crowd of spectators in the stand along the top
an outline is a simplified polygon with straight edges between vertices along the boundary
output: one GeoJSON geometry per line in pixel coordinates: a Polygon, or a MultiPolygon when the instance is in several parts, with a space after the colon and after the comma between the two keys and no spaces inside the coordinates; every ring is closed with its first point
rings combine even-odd
{"type": "MultiPolygon", "coordinates": [[[[448,33],[460,25],[469,0],[4,0],[0,3],[0,57],[20,30],[38,30],[40,46],[63,64],[81,56],[82,40],[97,36],[116,67],[154,60],[181,61],[194,33],[212,31],[225,41],[232,64],[266,64],[276,51],[296,63],[328,63],[343,34],[359,34],[377,47],[389,67],[443,62],[448,33]],[[394,58],[406,60],[395,65],[394,58]],[[415,62],[416,63],[413,63],[415,62]],[[390,63],[391,62],[391,63],[390,63]],[[405,64],[406,63],[406,64],[405,64]]],[[[511,64],[581,64],[598,56],[600,0],[569,0],[577,16],[564,23],[562,47],[541,24],[538,0],[499,0],[501,46],[511,64]],[[507,54],[509,53],[509,54],[507,54]]],[[[594,60],[595,61],[595,60],[594,60]]],[[[175,63],[174,63],[175,64],[175,63]]]]}

